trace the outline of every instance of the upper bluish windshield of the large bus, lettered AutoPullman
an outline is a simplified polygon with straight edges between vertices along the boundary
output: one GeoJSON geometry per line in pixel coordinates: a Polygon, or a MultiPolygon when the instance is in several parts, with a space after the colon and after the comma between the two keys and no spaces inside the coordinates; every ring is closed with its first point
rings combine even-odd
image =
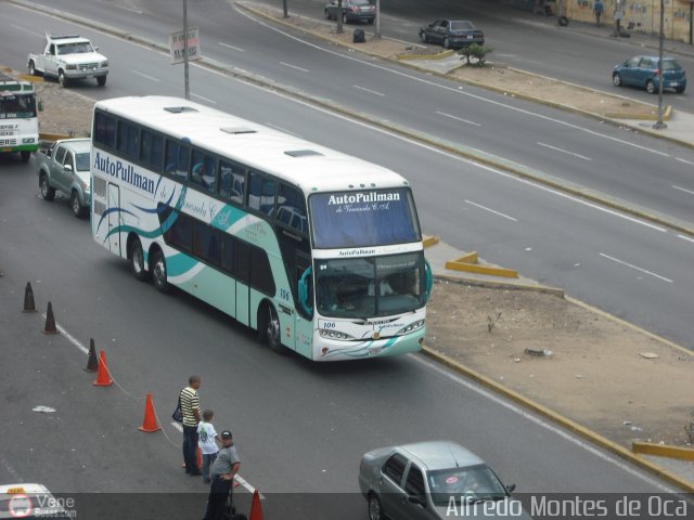
{"type": "Polygon", "coordinates": [[[408,187],[317,193],[309,198],[318,249],[383,246],[422,239],[408,187]]]}

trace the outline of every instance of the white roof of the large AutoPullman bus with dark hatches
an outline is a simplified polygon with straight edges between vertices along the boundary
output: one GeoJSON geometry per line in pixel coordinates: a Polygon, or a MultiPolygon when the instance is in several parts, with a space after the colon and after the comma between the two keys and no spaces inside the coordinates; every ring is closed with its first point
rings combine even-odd
{"type": "Polygon", "coordinates": [[[409,185],[387,168],[180,98],[114,98],[94,108],[274,174],[307,194],[409,185]]]}

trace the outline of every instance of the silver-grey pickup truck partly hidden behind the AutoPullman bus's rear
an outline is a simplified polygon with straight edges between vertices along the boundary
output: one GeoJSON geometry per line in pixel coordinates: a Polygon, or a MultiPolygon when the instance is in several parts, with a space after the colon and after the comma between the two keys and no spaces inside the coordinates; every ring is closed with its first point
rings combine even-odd
{"type": "Polygon", "coordinates": [[[36,172],[44,200],[53,200],[55,191],[69,196],[75,217],[85,217],[91,203],[89,171],[91,140],[63,139],[36,153],[36,172]]]}

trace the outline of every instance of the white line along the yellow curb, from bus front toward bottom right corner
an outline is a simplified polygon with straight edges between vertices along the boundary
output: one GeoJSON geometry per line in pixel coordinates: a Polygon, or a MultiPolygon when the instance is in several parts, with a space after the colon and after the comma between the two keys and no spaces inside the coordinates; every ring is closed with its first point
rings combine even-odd
{"type": "Polygon", "coordinates": [[[497,395],[496,393],[492,393],[489,390],[485,390],[480,387],[478,387],[477,385],[472,384],[471,381],[466,380],[465,378],[463,378],[462,376],[459,376],[458,374],[451,373],[449,372],[448,368],[445,368],[442,366],[437,365],[435,362],[433,361],[428,361],[425,358],[423,358],[422,355],[416,355],[416,354],[408,354],[408,356],[412,360],[417,361],[419,363],[422,363],[423,365],[429,367],[432,370],[439,373],[440,375],[442,375],[444,377],[447,377],[448,379],[451,379],[452,381],[457,382],[458,385],[461,385],[465,388],[467,388],[468,390],[472,390],[473,392],[478,393],[479,395],[483,395],[484,398],[500,404],[501,406],[510,410],[511,412],[522,416],[523,418],[529,420],[530,422],[534,422],[549,431],[551,431],[552,433],[554,433],[555,435],[558,435],[567,441],[569,441],[570,443],[579,446],[580,448],[591,453],[592,455],[595,455],[597,458],[601,458],[602,460],[605,460],[606,463],[612,464],[613,466],[618,467],[619,469],[621,469],[622,471],[646,482],[648,485],[653,485],[654,487],[657,487],[666,493],[676,493],[679,491],[676,491],[673,487],[668,487],[667,485],[661,484],[660,482],[658,482],[655,479],[652,479],[651,477],[643,474],[642,472],[638,471],[637,469],[634,469],[631,465],[622,463],[621,460],[615,458],[614,456],[609,455],[608,453],[603,452],[602,450],[599,450],[597,447],[593,446],[592,443],[588,442],[588,441],[583,441],[582,439],[575,437],[573,433],[569,433],[567,431],[565,431],[563,428],[554,426],[551,422],[548,422],[544,419],[541,419],[540,417],[536,416],[535,414],[532,414],[531,412],[529,412],[528,410],[526,410],[525,407],[518,406],[516,404],[513,404],[510,401],[506,401],[504,398],[501,398],[499,395],[497,395]]]}

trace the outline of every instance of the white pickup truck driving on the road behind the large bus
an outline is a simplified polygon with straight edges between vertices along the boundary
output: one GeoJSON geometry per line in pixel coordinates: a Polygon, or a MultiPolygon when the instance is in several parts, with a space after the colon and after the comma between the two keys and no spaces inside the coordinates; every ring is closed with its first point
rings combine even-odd
{"type": "Polygon", "coordinates": [[[29,54],[29,74],[57,78],[63,87],[73,79],[95,78],[103,87],[108,75],[108,60],[98,50],[87,38],[46,32],[43,53],[29,54]]]}

